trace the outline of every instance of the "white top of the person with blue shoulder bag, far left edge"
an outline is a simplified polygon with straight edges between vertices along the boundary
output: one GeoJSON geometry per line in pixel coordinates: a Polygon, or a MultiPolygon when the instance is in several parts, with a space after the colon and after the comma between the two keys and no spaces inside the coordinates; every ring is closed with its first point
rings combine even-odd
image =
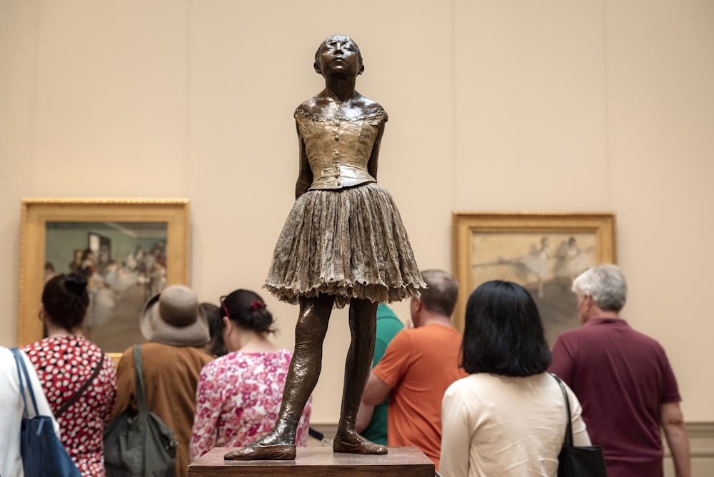
{"type": "MultiPolygon", "coordinates": [[[[37,410],[40,416],[52,416],[54,432],[59,437],[59,426],[55,421],[52,411],[47,403],[47,398],[42,391],[42,385],[37,379],[37,373],[25,353],[27,373],[30,376],[32,391],[37,401],[37,410]]],[[[35,416],[32,398],[25,387],[28,406],[28,417],[35,416]]],[[[15,358],[8,348],[0,346],[0,476],[24,477],[22,459],[20,457],[20,423],[24,403],[20,395],[20,382],[17,378],[15,358]]]]}

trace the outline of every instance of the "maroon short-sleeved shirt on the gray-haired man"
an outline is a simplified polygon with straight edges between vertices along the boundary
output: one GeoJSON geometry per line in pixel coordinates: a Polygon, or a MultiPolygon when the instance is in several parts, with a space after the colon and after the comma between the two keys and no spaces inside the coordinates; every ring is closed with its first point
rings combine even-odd
{"type": "Polygon", "coordinates": [[[681,401],[660,344],[620,318],[596,318],[558,336],[553,365],[578,396],[608,477],[663,476],[660,406],[681,401]]]}

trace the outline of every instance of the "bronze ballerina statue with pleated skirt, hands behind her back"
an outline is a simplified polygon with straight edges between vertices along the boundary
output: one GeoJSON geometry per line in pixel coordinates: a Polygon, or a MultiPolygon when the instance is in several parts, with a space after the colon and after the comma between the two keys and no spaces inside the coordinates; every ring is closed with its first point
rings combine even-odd
{"type": "Polygon", "coordinates": [[[371,370],[380,302],[426,287],[391,195],[376,182],[387,114],[355,90],[364,66],[357,44],[330,36],[315,54],[325,89],[297,107],[300,171],[296,201],[278,238],[264,287],[299,303],[295,352],[273,431],[227,460],[294,459],[298,421],[315,388],[333,306],[349,303],[352,341],[333,451],[383,454],[355,430],[371,370]]]}

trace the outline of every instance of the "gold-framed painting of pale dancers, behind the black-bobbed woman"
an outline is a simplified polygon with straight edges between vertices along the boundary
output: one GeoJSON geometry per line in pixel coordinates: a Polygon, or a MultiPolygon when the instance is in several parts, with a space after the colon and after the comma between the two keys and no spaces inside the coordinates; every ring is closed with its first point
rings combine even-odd
{"type": "Polygon", "coordinates": [[[452,258],[460,331],[471,292],[485,281],[508,280],[531,293],[552,346],[560,333],[580,326],[573,278],[615,263],[615,214],[453,212],[452,258]]]}

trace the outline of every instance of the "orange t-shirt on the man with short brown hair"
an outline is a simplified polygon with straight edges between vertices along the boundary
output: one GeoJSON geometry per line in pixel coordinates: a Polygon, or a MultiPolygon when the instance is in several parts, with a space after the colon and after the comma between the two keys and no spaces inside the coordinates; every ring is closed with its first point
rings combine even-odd
{"type": "Polygon", "coordinates": [[[461,334],[451,326],[432,323],[397,333],[373,369],[394,388],[387,415],[388,446],[416,446],[437,469],[441,400],[451,383],[468,376],[458,367],[460,355],[461,334]]]}

